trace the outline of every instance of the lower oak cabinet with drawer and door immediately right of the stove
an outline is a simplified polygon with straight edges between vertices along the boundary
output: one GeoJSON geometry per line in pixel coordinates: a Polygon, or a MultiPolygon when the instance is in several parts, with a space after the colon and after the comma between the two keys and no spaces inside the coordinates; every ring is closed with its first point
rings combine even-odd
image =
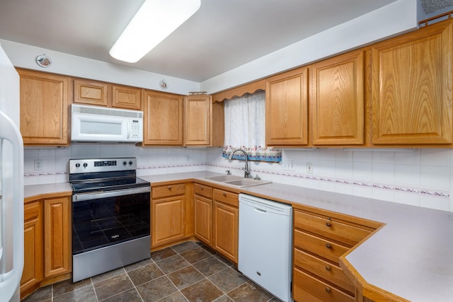
{"type": "Polygon", "coordinates": [[[185,238],[185,184],[151,188],[151,248],[185,238]]]}

